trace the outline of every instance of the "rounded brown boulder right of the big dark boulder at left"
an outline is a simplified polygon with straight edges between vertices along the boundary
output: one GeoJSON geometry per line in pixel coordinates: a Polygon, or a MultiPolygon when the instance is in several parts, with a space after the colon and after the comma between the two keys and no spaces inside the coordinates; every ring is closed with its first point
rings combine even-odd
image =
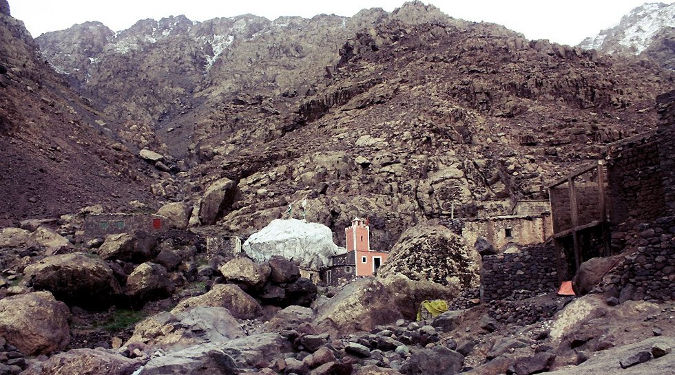
{"type": "Polygon", "coordinates": [[[175,289],[164,266],[146,261],[127,277],[124,292],[132,306],[143,306],[147,301],[169,297],[175,289]]]}

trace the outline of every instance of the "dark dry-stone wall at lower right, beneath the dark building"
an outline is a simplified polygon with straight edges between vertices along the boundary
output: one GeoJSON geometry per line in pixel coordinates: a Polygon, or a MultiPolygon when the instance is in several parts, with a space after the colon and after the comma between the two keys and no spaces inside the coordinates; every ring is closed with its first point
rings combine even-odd
{"type": "Polygon", "coordinates": [[[674,238],[675,216],[627,232],[625,258],[605,277],[605,294],[621,302],[675,301],[674,238]]]}

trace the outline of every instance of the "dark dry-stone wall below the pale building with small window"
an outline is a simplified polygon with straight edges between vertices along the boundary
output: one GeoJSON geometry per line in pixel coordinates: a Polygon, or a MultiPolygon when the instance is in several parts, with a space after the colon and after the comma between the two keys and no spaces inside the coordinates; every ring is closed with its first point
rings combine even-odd
{"type": "Polygon", "coordinates": [[[558,285],[551,246],[529,246],[521,253],[483,257],[481,299],[484,302],[506,299],[516,290],[532,295],[555,290],[558,285]]]}

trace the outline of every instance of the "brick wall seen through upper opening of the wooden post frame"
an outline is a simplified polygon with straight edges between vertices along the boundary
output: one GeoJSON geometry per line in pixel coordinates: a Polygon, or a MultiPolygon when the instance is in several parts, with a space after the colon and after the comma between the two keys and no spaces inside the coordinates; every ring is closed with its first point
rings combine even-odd
{"type": "MultiPolygon", "coordinates": [[[[577,212],[579,225],[588,224],[600,219],[599,190],[597,184],[574,184],[577,190],[577,212]]],[[[553,230],[555,233],[572,228],[572,211],[570,209],[570,191],[567,184],[550,189],[551,211],[553,214],[553,230]]]]}

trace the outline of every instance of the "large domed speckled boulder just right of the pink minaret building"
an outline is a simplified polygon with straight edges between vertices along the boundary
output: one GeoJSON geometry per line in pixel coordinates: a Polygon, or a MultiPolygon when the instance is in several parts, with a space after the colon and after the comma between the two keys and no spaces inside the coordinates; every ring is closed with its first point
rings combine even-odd
{"type": "Polygon", "coordinates": [[[391,249],[377,275],[400,273],[456,288],[480,283],[481,257],[462,237],[440,225],[419,224],[405,231],[391,249]]]}

